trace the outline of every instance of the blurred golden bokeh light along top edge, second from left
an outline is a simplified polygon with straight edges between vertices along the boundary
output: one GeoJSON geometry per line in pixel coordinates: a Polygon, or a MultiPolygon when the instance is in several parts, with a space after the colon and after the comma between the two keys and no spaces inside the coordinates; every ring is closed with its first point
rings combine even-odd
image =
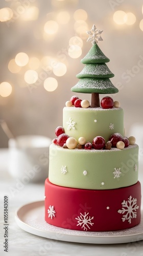
{"type": "Polygon", "coordinates": [[[22,20],[36,20],[39,16],[39,9],[36,6],[31,6],[20,15],[22,20]]]}

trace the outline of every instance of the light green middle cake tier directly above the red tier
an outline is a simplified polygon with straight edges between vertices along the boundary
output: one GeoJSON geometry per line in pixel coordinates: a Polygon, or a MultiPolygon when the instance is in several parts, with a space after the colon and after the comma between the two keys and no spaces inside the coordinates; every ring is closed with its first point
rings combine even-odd
{"type": "Polygon", "coordinates": [[[59,186],[83,189],[133,185],[138,181],[138,146],[130,145],[124,150],[69,150],[52,144],[49,180],[59,186]]]}

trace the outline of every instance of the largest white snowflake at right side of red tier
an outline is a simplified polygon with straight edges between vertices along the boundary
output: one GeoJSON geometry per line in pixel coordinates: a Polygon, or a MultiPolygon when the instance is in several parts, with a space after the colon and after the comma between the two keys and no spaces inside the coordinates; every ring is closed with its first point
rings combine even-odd
{"type": "Polygon", "coordinates": [[[117,212],[119,214],[126,214],[123,215],[122,221],[124,222],[125,220],[128,220],[129,223],[131,223],[131,219],[136,219],[136,209],[139,208],[139,206],[136,204],[137,200],[136,198],[132,198],[130,196],[128,198],[128,201],[123,201],[122,202],[122,209],[118,210],[117,212]]]}

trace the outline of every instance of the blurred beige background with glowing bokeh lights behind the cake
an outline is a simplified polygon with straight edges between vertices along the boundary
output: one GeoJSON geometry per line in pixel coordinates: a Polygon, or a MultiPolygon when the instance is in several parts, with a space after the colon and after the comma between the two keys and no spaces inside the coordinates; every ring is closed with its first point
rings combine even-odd
{"type": "MultiPolygon", "coordinates": [[[[14,137],[55,137],[62,109],[91,47],[87,30],[103,30],[99,47],[110,58],[127,134],[142,121],[143,9],[134,0],[2,0],[0,115],[14,137]]],[[[77,94],[90,100],[89,94],[77,94]]],[[[103,97],[102,95],[100,96],[103,97]]],[[[0,147],[8,138],[0,127],[0,147]]]]}

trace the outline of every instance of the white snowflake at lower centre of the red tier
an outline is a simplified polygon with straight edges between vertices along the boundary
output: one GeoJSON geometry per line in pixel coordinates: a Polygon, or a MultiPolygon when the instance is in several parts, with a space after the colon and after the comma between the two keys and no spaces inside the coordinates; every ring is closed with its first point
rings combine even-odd
{"type": "MultiPolygon", "coordinates": [[[[81,212],[80,212],[81,214],[81,212]]],[[[87,215],[89,214],[89,212],[84,212],[84,215],[81,214],[80,216],[78,216],[78,218],[75,218],[76,220],[78,220],[78,224],[77,226],[81,226],[81,228],[84,228],[84,230],[87,230],[87,228],[90,229],[89,225],[93,225],[94,223],[91,222],[91,220],[93,220],[94,217],[88,217],[87,215]]]]}

